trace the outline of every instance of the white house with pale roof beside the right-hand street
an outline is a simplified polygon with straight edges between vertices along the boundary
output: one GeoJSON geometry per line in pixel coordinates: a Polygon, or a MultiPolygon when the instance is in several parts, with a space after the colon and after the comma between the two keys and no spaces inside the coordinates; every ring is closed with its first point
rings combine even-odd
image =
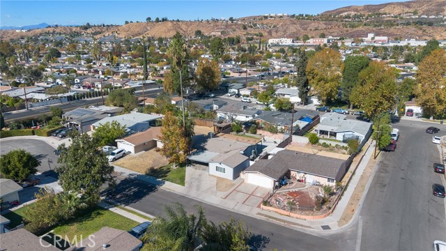
{"type": "Polygon", "coordinates": [[[344,118],[345,115],[334,113],[321,118],[321,123],[316,126],[318,136],[334,138],[344,143],[357,139],[362,147],[371,135],[371,123],[344,118]]]}

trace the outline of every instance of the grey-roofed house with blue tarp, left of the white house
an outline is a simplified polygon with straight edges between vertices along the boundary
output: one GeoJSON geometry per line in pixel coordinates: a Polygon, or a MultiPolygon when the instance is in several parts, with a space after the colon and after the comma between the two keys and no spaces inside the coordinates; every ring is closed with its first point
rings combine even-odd
{"type": "Polygon", "coordinates": [[[318,112],[298,109],[294,114],[291,112],[263,111],[254,120],[259,123],[261,128],[275,126],[279,131],[284,132],[291,130],[291,124],[293,124],[293,132],[298,132],[317,119],[319,119],[318,112]]]}

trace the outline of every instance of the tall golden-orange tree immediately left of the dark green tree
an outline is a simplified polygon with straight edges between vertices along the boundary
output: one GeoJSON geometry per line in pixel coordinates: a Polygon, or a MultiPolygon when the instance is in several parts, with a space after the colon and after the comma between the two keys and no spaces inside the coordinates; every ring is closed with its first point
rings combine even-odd
{"type": "Polygon", "coordinates": [[[307,77],[323,104],[337,98],[344,63],[339,52],[325,48],[316,52],[307,63],[307,77]]]}

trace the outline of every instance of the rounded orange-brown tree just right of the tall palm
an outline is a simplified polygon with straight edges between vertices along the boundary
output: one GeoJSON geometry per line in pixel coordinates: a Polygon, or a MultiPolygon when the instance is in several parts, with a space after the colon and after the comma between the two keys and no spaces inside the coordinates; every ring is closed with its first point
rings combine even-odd
{"type": "Polygon", "coordinates": [[[217,89],[220,84],[220,66],[217,61],[200,58],[196,79],[201,89],[217,89]]]}

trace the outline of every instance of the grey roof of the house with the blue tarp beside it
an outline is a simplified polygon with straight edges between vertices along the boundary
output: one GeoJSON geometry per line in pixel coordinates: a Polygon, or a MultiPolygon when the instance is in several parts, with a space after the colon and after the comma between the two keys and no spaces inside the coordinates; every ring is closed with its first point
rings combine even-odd
{"type": "MultiPolygon", "coordinates": [[[[309,109],[299,109],[294,113],[295,124],[300,119],[309,117],[310,119],[318,116],[319,113],[309,109]]],[[[263,111],[256,119],[261,119],[270,125],[275,126],[291,126],[291,120],[293,119],[293,114],[291,112],[275,112],[275,111],[263,111]]]]}

